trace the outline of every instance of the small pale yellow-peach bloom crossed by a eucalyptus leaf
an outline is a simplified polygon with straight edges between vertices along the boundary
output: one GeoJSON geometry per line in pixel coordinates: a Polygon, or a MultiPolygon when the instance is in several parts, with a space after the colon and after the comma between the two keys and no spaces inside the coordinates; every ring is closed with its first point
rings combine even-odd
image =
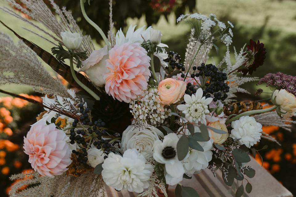
{"type": "Polygon", "coordinates": [[[227,133],[224,133],[224,134],[220,134],[220,133],[214,132],[212,129],[208,129],[209,136],[214,140],[214,143],[222,144],[227,140],[228,131],[227,131],[226,125],[224,123],[220,123],[219,120],[218,120],[216,122],[209,123],[208,126],[227,132],[227,133]]]}

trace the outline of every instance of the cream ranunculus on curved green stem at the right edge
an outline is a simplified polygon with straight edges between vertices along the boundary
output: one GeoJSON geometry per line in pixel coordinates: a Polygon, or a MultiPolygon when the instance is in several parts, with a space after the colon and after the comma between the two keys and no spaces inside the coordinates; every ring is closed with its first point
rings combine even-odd
{"type": "Polygon", "coordinates": [[[296,112],[296,97],[285,89],[275,90],[272,94],[272,102],[292,115],[296,112]]]}

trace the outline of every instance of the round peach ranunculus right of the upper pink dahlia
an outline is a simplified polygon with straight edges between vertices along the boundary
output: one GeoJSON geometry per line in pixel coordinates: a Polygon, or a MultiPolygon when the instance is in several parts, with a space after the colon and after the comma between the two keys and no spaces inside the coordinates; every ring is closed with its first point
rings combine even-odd
{"type": "Polygon", "coordinates": [[[158,84],[158,94],[160,103],[163,106],[177,103],[184,95],[186,82],[173,78],[166,78],[158,84]]]}

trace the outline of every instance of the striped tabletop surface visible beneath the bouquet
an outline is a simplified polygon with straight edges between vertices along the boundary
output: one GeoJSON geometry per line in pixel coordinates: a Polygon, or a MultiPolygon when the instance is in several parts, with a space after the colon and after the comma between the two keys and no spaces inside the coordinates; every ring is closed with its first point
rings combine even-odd
{"type": "MultiPolygon", "coordinates": [[[[290,191],[282,186],[272,175],[269,174],[261,165],[259,165],[253,158],[248,165],[251,165],[256,170],[254,178],[248,181],[252,184],[253,190],[250,194],[244,193],[244,197],[293,197],[290,191]]],[[[217,172],[217,177],[214,177],[212,172],[208,169],[203,170],[199,174],[193,175],[192,179],[184,179],[183,186],[195,188],[200,197],[232,197],[235,195],[237,185],[241,185],[241,181],[234,181],[232,187],[228,187],[223,179],[221,172],[217,172]]],[[[244,186],[247,181],[244,180],[244,186]]],[[[117,192],[114,189],[105,187],[108,197],[136,197],[137,193],[129,191],[117,192]]],[[[170,186],[168,189],[168,196],[174,197],[175,186],[170,186]]]]}

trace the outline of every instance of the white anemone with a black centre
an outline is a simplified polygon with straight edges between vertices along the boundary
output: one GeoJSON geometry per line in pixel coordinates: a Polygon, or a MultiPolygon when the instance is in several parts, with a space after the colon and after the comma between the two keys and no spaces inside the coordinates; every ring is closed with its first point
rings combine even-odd
{"type": "Polygon", "coordinates": [[[158,163],[165,164],[166,180],[168,184],[174,180],[180,180],[185,173],[182,161],[177,156],[177,143],[179,137],[175,133],[169,133],[164,136],[162,141],[156,140],[154,143],[153,158],[158,163]]]}

